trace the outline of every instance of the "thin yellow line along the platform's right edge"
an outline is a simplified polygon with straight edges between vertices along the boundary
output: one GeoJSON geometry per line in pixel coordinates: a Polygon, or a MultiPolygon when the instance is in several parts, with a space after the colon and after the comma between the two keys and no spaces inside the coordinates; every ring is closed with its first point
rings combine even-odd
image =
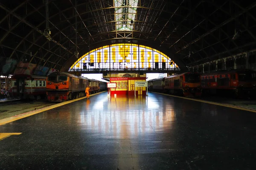
{"type": "MultiPolygon", "coordinates": [[[[169,94],[164,94],[164,93],[159,93],[159,92],[154,92],[154,93],[161,94],[161,95],[169,95],[169,94]]],[[[175,98],[183,98],[183,99],[191,100],[191,101],[198,101],[198,102],[207,103],[207,104],[214,104],[214,105],[223,106],[223,107],[229,107],[229,108],[233,108],[233,109],[240,109],[240,110],[244,110],[244,111],[248,111],[248,112],[256,112],[256,110],[230,106],[230,105],[221,104],[221,103],[217,103],[217,102],[213,102],[213,101],[204,101],[204,100],[200,100],[200,99],[186,98],[186,97],[176,96],[176,95],[169,95],[169,96],[172,96],[172,97],[175,97],[175,98]]]]}

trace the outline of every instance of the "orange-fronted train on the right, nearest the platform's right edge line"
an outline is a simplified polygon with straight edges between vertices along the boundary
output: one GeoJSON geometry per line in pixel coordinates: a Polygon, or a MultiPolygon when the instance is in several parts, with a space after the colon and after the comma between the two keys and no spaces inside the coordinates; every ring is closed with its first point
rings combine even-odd
{"type": "Polygon", "coordinates": [[[200,75],[185,72],[148,81],[148,90],[183,96],[201,96],[200,75]]]}

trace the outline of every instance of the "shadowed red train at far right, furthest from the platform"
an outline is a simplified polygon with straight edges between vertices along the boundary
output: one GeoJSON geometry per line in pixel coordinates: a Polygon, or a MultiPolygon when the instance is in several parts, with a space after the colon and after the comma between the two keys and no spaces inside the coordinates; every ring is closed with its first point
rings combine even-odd
{"type": "Polygon", "coordinates": [[[253,96],[256,90],[256,71],[233,69],[201,75],[201,86],[205,94],[227,94],[236,97],[253,96]]]}

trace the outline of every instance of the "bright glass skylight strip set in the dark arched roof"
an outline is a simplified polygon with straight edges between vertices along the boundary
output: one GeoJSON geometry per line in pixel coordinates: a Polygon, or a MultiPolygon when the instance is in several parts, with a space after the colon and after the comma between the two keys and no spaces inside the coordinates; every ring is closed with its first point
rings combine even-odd
{"type": "Polygon", "coordinates": [[[116,30],[133,30],[131,20],[135,19],[138,0],[114,0],[116,30]]]}

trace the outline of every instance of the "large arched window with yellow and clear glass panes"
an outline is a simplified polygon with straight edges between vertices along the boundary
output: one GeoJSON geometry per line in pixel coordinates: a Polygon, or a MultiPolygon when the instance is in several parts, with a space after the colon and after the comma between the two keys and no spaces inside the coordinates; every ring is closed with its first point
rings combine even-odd
{"type": "Polygon", "coordinates": [[[111,44],[93,49],[79,58],[69,71],[87,69],[178,69],[171,58],[147,46],[131,43],[111,44]]]}

